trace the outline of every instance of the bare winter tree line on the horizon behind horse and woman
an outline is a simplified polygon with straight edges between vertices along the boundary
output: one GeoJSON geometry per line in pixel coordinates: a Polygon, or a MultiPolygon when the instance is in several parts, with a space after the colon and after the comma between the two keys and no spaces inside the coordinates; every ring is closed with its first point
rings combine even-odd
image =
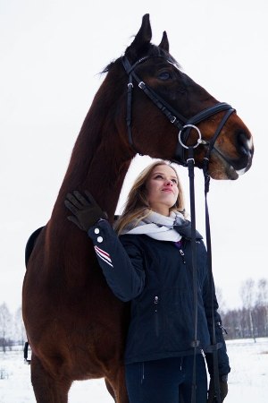
{"type": "MultiPolygon", "coordinates": [[[[242,307],[228,309],[222,291],[216,288],[225,339],[268,337],[268,279],[245,280],[240,287],[242,307]]],[[[21,307],[10,313],[5,303],[0,305],[0,351],[24,346],[27,336],[22,321],[21,307]]]]}

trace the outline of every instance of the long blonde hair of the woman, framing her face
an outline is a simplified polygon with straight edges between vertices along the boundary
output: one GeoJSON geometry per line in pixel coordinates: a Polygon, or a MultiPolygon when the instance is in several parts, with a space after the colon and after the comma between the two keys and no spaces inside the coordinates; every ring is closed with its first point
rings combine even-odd
{"type": "Polygon", "coordinates": [[[127,227],[130,222],[133,222],[133,227],[136,227],[139,221],[145,219],[150,214],[151,207],[147,201],[146,184],[152,171],[155,169],[155,167],[160,165],[167,165],[168,167],[171,167],[178,181],[178,198],[170,211],[180,211],[180,213],[184,215],[184,196],[178,173],[171,164],[165,162],[163,159],[160,159],[146,167],[138,175],[136,181],[132,185],[121,217],[114,224],[114,228],[119,235],[121,234],[122,229],[127,227]]]}

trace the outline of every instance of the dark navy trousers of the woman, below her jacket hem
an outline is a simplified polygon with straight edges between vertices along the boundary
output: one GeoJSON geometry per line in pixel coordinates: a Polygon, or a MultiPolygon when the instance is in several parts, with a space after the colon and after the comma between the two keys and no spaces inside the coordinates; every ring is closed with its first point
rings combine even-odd
{"type": "MultiPolygon", "coordinates": [[[[130,403],[190,403],[193,356],[126,364],[130,403]]],[[[196,403],[206,403],[205,359],[197,355],[196,403]]]]}

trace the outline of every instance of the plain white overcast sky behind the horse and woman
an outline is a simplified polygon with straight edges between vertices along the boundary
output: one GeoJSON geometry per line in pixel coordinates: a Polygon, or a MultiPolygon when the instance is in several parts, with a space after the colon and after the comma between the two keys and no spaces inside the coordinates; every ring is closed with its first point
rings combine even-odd
{"type": "MultiPolygon", "coordinates": [[[[228,307],[247,278],[267,278],[267,1],[0,0],[0,304],[21,304],[24,247],[50,218],[74,142],[99,88],[150,13],[153,42],[166,30],[172,56],[254,135],[253,167],[238,181],[212,181],[214,279],[228,307]]],[[[123,188],[149,162],[138,158],[123,188]]],[[[186,168],[180,167],[188,190],[186,168]]],[[[196,173],[197,227],[204,230],[196,173]]]]}

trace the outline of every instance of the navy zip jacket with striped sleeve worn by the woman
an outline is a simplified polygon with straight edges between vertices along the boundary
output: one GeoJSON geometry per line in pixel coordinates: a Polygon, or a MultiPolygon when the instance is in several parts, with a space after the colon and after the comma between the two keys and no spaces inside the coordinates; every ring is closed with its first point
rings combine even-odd
{"type": "MultiPolygon", "coordinates": [[[[90,228],[88,236],[114,295],[122,301],[131,301],[126,364],[193,354],[191,342],[195,339],[195,327],[190,240],[182,238],[181,248],[146,235],[123,235],[119,241],[105,220],[90,228]]],[[[217,308],[214,296],[216,339],[222,343],[218,350],[221,375],[229,373],[230,366],[217,308]]],[[[199,353],[202,350],[206,353],[210,346],[212,328],[206,251],[202,237],[197,233],[199,353]]],[[[211,360],[207,362],[212,373],[211,360]]]]}

